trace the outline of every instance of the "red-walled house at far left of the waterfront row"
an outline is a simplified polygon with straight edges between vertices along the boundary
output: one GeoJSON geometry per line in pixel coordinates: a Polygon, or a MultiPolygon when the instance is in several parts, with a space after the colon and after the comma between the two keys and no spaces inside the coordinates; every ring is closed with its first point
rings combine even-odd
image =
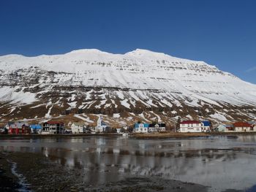
{"type": "Polygon", "coordinates": [[[28,123],[17,122],[7,124],[8,134],[30,134],[31,130],[28,123]]]}

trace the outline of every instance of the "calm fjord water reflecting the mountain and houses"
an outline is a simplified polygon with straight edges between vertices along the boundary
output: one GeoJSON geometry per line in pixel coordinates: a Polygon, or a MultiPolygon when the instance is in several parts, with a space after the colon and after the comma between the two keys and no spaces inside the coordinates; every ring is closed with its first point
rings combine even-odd
{"type": "Polygon", "coordinates": [[[57,164],[86,173],[93,185],[125,177],[157,176],[245,190],[256,184],[256,136],[189,139],[124,137],[7,138],[0,150],[42,153],[57,164]]]}

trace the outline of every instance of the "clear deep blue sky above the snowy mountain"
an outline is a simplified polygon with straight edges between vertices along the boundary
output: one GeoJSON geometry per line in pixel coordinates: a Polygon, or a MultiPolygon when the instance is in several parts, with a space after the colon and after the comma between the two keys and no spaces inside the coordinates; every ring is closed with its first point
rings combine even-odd
{"type": "Polygon", "coordinates": [[[256,1],[0,1],[0,55],[83,48],[206,61],[256,84],[256,1]]]}

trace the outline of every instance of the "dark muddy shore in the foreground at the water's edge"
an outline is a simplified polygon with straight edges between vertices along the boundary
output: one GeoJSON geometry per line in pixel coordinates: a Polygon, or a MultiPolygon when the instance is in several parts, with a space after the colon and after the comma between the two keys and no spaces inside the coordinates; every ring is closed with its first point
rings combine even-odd
{"type": "Polygon", "coordinates": [[[127,177],[95,186],[83,182],[86,175],[79,167],[63,167],[37,153],[0,153],[0,170],[0,191],[207,191],[203,185],[159,177],[127,177]]]}

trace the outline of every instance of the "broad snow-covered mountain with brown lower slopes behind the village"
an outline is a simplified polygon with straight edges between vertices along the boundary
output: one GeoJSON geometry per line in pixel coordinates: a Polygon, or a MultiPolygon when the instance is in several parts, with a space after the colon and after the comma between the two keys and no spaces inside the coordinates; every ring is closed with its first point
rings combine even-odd
{"type": "Polygon", "coordinates": [[[56,118],[113,126],[137,120],[256,118],[256,85],[203,61],[149,50],[95,49],[63,55],[0,57],[0,119],[56,118]]]}

